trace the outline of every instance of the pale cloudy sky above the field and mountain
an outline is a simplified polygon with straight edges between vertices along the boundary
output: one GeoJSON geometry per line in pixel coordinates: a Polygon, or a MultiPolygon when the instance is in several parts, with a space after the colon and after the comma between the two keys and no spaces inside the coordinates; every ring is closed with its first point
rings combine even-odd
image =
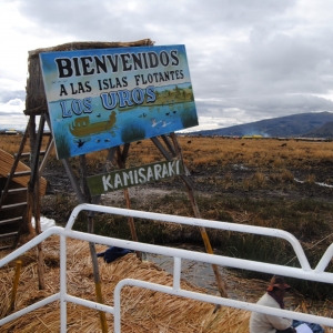
{"type": "Polygon", "coordinates": [[[0,129],[23,129],[28,51],[185,44],[201,129],[333,111],[331,0],[0,0],[0,129]]]}

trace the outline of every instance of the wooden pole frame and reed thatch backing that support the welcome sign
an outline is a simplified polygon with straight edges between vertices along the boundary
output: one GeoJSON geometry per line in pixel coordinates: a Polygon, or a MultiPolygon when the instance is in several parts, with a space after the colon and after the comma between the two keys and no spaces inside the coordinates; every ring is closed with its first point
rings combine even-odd
{"type": "MultiPolygon", "coordinates": [[[[49,49],[38,49],[34,51],[29,52],[29,79],[27,81],[27,99],[26,99],[26,110],[24,114],[29,117],[29,122],[26,131],[26,135],[23,137],[22,144],[23,147],[26,144],[26,140],[29,137],[30,140],[30,151],[31,151],[31,174],[30,180],[28,182],[27,186],[27,219],[28,221],[31,220],[31,215],[34,215],[36,219],[36,231],[37,233],[40,231],[40,175],[42,173],[42,169],[44,167],[44,163],[48,159],[48,155],[52,149],[53,145],[53,138],[52,138],[52,128],[50,122],[50,115],[48,111],[48,103],[44,92],[44,85],[43,85],[43,79],[41,73],[41,67],[40,67],[40,60],[39,54],[41,52],[54,52],[54,51],[68,51],[68,50],[85,50],[85,49],[110,49],[110,48],[123,48],[123,47],[147,47],[147,46],[153,46],[153,42],[150,39],[144,39],[135,42],[72,42],[67,43],[62,46],[58,46],[54,48],[49,49]],[[39,122],[39,124],[38,124],[39,122]],[[41,155],[41,143],[42,138],[46,134],[44,127],[46,124],[49,127],[50,131],[48,133],[50,134],[50,140],[47,144],[47,149],[43,152],[44,159],[42,162],[40,162],[40,155],[41,155]],[[37,129],[38,127],[38,129],[37,129]]],[[[154,143],[157,149],[161,152],[161,155],[168,160],[171,161],[173,159],[181,159],[181,149],[178,144],[176,135],[174,133],[170,133],[169,135],[161,134],[159,138],[153,137],[151,138],[151,141],[154,143]]],[[[124,141],[125,142],[125,141],[124,141]]],[[[112,147],[108,149],[108,158],[105,161],[105,165],[109,162],[117,161],[117,164],[119,169],[125,169],[127,158],[130,150],[130,143],[124,143],[122,147],[112,147]]],[[[22,152],[22,149],[20,148],[20,151],[22,152]]],[[[21,152],[18,153],[18,157],[21,154],[21,152]]],[[[14,160],[14,164],[17,163],[18,158],[14,160]]],[[[90,202],[90,203],[99,203],[100,195],[97,195],[94,198],[91,198],[90,191],[87,185],[87,168],[85,168],[85,154],[79,155],[80,161],[80,182],[77,180],[74,172],[71,168],[71,164],[69,162],[69,159],[64,158],[61,160],[64,170],[71,181],[72,188],[77,194],[78,201],[80,203],[83,202],[90,202]]],[[[13,164],[12,170],[16,169],[16,165],[13,164]]],[[[193,195],[193,186],[192,182],[189,179],[189,171],[185,168],[185,173],[180,176],[183,181],[188,193],[190,203],[192,205],[193,212],[195,218],[200,218],[199,208],[196,205],[194,195],[193,195]]],[[[124,189],[124,198],[127,201],[127,208],[130,209],[130,198],[129,192],[127,189],[124,189]]],[[[138,241],[137,234],[135,234],[135,228],[133,223],[133,219],[129,218],[129,225],[132,233],[133,241],[138,241]]],[[[93,213],[88,214],[88,232],[93,232],[93,213]]],[[[208,253],[213,253],[208,234],[204,230],[204,228],[200,228],[200,232],[202,234],[202,239],[204,242],[204,245],[206,248],[208,253]]],[[[91,259],[92,259],[92,265],[93,265],[93,272],[94,272],[94,282],[95,285],[100,285],[99,280],[99,270],[98,270],[98,262],[97,262],[97,254],[94,250],[94,244],[90,243],[90,252],[91,252],[91,259]]],[[[39,249],[39,253],[41,253],[41,249],[39,249]]],[[[138,253],[138,256],[140,256],[140,253],[138,253]]],[[[39,262],[42,261],[42,256],[39,256],[39,262]]],[[[42,265],[40,265],[41,268],[42,265]]],[[[219,292],[222,296],[226,296],[224,284],[222,281],[222,278],[218,271],[216,265],[213,265],[213,271],[215,273],[215,278],[218,281],[219,292]]],[[[41,276],[42,274],[40,274],[41,276]]],[[[40,286],[42,287],[43,281],[40,279],[40,286]]],[[[101,291],[97,289],[97,299],[98,302],[102,303],[102,296],[101,291]]],[[[104,322],[104,321],[102,321],[104,322]]],[[[103,332],[107,332],[107,327],[103,327],[103,332]]]]}

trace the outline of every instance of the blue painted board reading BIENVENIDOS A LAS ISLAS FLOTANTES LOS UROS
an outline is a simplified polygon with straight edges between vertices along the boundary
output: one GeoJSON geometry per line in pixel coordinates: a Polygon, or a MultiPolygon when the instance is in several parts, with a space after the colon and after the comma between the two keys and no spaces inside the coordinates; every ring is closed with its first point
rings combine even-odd
{"type": "Polygon", "coordinates": [[[40,53],[57,155],[198,125],[184,46],[40,53]]]}

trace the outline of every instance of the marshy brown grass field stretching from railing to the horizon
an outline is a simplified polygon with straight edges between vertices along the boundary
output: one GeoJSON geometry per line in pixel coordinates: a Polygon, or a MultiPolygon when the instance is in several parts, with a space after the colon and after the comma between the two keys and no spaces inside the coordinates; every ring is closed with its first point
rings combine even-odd
{"type": "MultiPolygon", "coordinates": [[[[0,149],[14,153],[20,139],[0,137],[0,149]]],[[[178,140],[202,218],[286,230],[301,241],[315,266],[333,241],[333,142],[200,137],[179,137],[178,140]]],[[[105,158],[105,151],[88,154],[89,174],[101,173],[105,158]]],[[[161,160],[154,144],[144,140],[131,144],[127,168],[161,160]]],[[[80,176],[79,159],[70,161],[80,176]]],[[[113,164],[109,163],[109,169],[112,170],[113,164]]],[[[42,201],[42,213],[59,224],[65,223],[77,200],[62,163],[54,154],[43,176],[50,182],[50,190],[42,201]]],[[[130,196],[133,209],[193,216],[185,188],[176,178],[132,188],[130,196]]],[[[125,208],[122,192],[104,195],[101,203],[125,208]]],[[[79,219],[75,228],[85,230],[85,220],[79,219]]],[[[135,228],[139,240],[144,242],[202,243],[194,228],[148,221],[135,221],[135,228]]],[[[131,238],[127,220],[121,216],[99,215],[94,230],[99,234],[131,238]]],[[[292,249],[281,240],[216,231],[209,231],[209,235],[221,253],[299,265],[292,249]]],[[[249,279],[268,279],[248,271],[238,273],[249,279]]],[[[292,283],[304,295],[333,299],[327,285],[292,283]]]]}

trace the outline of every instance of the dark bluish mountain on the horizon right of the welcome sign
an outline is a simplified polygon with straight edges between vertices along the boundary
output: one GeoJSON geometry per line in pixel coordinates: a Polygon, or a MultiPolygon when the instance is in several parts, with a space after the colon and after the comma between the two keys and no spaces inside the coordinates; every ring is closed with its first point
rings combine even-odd
{"type": "MultiPolygon", "coordinates": [[[[204,137],[205,135],[238,135],[238,137],[263,135],[263,137],[290,138],[290,137],[311,135],[316,138],[317,137],[326,138],[323,137],[323,134],[312,135],[310,133],[315,133],[314,132],[315,130],[324,127],[329,122],[333,122],[333,113],[331,112],[301,113],[301,114],[293,114],[293,115],[273,118],[273,119],[265,119],[265,120],[234,125],[230,128],[200,131],[200,132],[195,132],[195,134],[201,134],[204,137]]],[[[330,127],[327,125],[327,128],[330,127]]],[[[332,137],[332,130],[329,137],[332,137]]]]}

